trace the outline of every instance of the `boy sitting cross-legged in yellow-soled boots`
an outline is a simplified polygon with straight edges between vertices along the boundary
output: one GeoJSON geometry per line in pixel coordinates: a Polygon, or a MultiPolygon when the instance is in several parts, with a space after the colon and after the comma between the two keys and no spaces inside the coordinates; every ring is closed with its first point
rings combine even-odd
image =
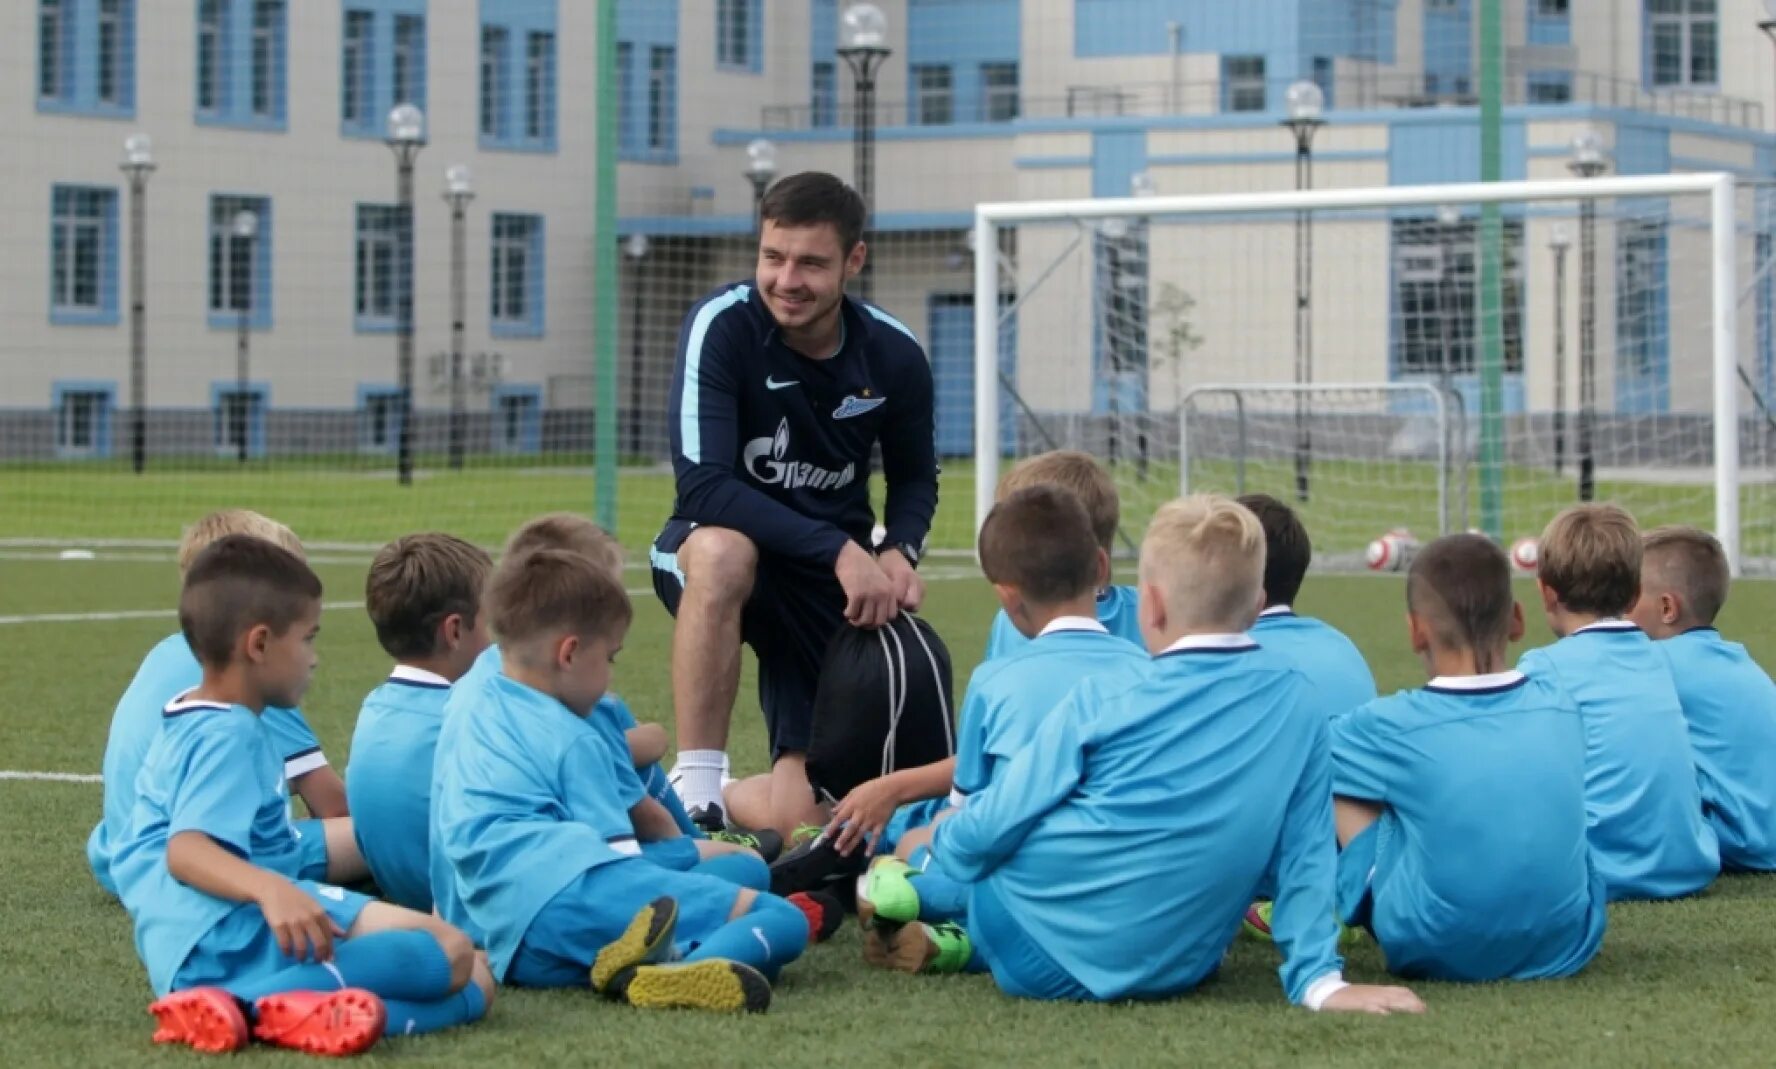
{"type": "Polygon", "coordinates": [[[629,630],[622,584],[584,556],[538,549],[499,563],[487,602],[503,664],[453,696],[433,831],[451,907],[485,938],[494,975],[591,984],[646,1007],[765,1009],[808,922],[781,899],[645,859],[613,785],[629,753],[584,728],[629,630]],[[661,964],[675,934],[694,950],[661,964]]]}

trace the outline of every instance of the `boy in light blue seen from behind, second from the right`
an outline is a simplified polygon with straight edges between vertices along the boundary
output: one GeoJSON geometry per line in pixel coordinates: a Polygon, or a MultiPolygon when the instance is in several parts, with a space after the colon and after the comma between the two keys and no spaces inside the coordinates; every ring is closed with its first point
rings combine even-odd
{"type": "Polygon", "coordinates": [[[1563,689],[1584,721],[1591,852],[1621,899],[1693,895],[1721,870],[1701,815],[1684,705],[1652,639],[1625,620],[1641,593],[1641,533],[1613,504],[1575,504],[1538,543],[1552,646],[1517,668],[1563,689]]]}

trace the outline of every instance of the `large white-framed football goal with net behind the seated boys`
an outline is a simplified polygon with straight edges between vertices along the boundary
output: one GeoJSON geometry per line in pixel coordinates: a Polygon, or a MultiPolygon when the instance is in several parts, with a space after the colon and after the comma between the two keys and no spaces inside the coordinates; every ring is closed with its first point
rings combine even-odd
{"type": "Polygon", "coordinates": [[[1069,447],[1114,472],[1124,550],[1179,492],[1272,494],[1330,566],[1399,527],[1510,542],[1613,501],[1769,570],[1769,192],[1682,174],[980,204],[973,520],[1007,465],[1069,447]]]}

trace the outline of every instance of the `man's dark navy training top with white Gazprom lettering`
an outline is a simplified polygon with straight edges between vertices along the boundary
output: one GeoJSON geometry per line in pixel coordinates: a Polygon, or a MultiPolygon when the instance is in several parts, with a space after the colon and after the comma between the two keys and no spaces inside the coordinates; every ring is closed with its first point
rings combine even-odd
{"type": "Polygon", "coordinates": [[[838,353],[785,344],[753,282],[686,316],[671,385],[675,520],[730,527],[760,552],[831,565],[870,545],[870,451],[883,447],[883,545],[922,547],[938,510],[931,364],[888,313],[845,297],[838,353]]]}

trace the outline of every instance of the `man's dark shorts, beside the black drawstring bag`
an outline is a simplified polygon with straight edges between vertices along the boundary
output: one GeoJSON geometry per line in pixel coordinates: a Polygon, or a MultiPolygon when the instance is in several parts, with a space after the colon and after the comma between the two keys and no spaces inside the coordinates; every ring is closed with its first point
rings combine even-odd
{"type": "MultiPolygon", "coordinates": [[[[673,616],[684,597],[678,547],[694,527],[691,520],[668,520],[648,554],[654,593],[673,616]]],[[[741,641],[758,655],[758,705],[765,710],[773,762],[785,753],[806,753],[821,664],[840,627],[847,627],[845,590],[831,568],[758,554],[753,595],[741,611],[741,641]]]]}

